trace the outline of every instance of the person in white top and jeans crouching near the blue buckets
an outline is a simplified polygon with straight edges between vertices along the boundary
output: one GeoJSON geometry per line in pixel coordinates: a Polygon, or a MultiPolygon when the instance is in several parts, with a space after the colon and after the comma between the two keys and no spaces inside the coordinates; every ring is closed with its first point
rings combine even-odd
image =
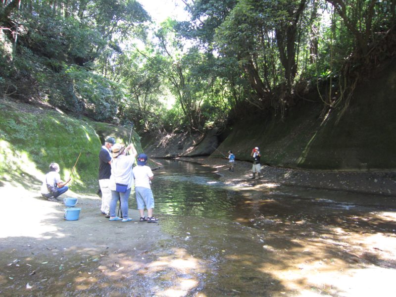
{"type": "Polygon", "coordinates": [[[69,177],[66,182],[62,182],[59,170],[60,168],[58,163],[49,164],[49,172],[46,174],[41,187],[41,195],[51,201],[58,201],[56,197],[69,190],[69,187],[67,187],[66,184],[70,182],[71,178],[69,177]]]}

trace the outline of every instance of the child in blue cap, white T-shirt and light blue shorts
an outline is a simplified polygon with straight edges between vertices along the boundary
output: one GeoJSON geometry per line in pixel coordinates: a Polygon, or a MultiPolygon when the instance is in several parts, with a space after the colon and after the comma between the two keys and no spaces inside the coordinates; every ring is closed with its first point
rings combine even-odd
{"type": "Polygon", "coordinates": [[[133,176],[135,178],[135,193],[136,202],[140,212],[141,222],[156,223],[158,219],[152,216],[152,209],[154,208],[154,197],[150,183],[154,178],[150,167],[146,166],[148,157],[147,154],[141,153],[138,155],[138,166],[133,168],[133,176]],[[147,218],[145,217],[145,205],[147,208],[147,218]]]}

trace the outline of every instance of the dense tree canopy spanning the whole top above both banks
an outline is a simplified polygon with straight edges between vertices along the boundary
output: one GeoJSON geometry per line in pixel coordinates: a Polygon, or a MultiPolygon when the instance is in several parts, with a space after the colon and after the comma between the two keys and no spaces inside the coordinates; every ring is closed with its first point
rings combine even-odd
{"type": "Polygon", "coordinates": [[[345,109],[395,54],[395,0],[181,3],[190,21],[152,24],[136,0],[2,0],[1,95],[141,131],[203,130],[244,110],[284,115],[309,90],[345,109]]]}

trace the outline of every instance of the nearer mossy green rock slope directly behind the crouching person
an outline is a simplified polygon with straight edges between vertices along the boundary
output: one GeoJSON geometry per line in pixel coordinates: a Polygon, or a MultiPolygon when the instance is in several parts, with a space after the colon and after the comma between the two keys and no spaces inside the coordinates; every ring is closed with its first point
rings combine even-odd
{"type": "Polygon", "coordinates": [[[85,122],[53,111],[21,111],[15,104],[6,103],[2,105],[0,131],[0,155],[6,158],[0,164],[2,178],[23,184],[27,175],[40,184],[49,163],[57,162],[65,179],[82,151],[73,175],[73,190],[96,185],[97,162],[91,158],[100,142],[85,122]]]}

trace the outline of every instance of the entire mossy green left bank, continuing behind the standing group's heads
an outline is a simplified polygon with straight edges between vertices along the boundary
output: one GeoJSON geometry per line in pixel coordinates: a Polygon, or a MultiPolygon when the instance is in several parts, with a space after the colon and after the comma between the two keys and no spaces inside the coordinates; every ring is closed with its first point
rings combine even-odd
{"type": "MultiPolygon", "coordinates": [[[[103,140],[113,136],[128,142],[131,130],[122,126],[75,118],[48,107],[0,100],[0,183],[32,187],[40,184],[49,163],[60,165],[66,179],[80,152],[72,175],[73,191],[98,189],[98,153],[103,140]]],[[[139,135],[131,141],[142,151],[139,135]]]]}

